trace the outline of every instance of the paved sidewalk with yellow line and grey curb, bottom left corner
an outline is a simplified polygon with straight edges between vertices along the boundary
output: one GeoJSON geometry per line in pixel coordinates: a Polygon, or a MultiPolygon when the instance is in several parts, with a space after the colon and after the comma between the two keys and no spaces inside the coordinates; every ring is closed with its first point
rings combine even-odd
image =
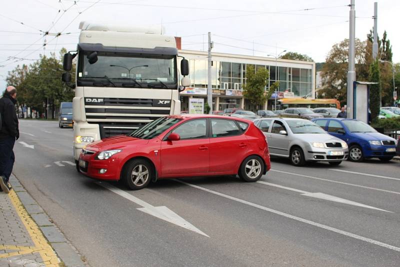
{"type": "Polygon", "coordinates": [[[14,175],[0,192],[0,267],[87,266],[14,175]]]}

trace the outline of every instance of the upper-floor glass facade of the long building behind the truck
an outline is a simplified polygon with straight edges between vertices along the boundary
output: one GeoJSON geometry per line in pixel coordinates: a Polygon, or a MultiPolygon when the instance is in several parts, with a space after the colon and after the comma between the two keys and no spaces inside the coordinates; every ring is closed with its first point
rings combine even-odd
{"type": "MultiPolygon", "coordinates": [[[[188,59],[190,65],[189,78],[192,87],[207,87],[207,60],[188,59]]],[[[269,70],[269,79],[265,90],[275,81],[279,81],[279,91],[293,92],[294,96],[310,96],[312,89],[312,69],[291,66],[263,64],[246,64],[240,62],[212,61],[211,84],[213,89],[241,90],[246,82],[246,67],[269,70]]]]}

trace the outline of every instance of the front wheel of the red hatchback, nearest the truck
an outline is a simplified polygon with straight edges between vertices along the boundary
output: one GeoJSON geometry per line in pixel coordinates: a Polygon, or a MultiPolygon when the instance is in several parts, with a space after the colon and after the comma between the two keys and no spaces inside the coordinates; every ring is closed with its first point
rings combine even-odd
{"type": "Polygon", "coordinates": [[[146,187],[154,175],[152,166],[143,159],[130,161],[123,172],[123,179],[131,190],[138,190],[146,187]]]}

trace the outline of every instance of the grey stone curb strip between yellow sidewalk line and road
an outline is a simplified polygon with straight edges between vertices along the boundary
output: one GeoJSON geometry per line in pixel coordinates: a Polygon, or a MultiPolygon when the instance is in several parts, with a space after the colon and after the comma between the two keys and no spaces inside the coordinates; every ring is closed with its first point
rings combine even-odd
{"type": "Polygon", "coordinates": [[[64,234],[52,222],[36,200],[34,200],[22,186],[18,178],[11,174],[9,182],[28,215],[37,224],[44,237],[47,239],[48,244],[52,247],[64,265],[70,267],[89,266],[86,262],[82,261],[83,256],[80,255],[77,249],[65,238],[64,234]]]}

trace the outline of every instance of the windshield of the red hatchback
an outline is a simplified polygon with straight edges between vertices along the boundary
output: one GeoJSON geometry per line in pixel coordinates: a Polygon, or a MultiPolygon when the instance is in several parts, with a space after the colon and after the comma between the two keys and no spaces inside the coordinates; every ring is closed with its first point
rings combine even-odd
{"type": "Polygon", "coordinates": [[[151,139],[160,135],[164,130],[178,123],[181,119],[175,117],[160,117],[129,135],[141,139],[151,139]]]}

